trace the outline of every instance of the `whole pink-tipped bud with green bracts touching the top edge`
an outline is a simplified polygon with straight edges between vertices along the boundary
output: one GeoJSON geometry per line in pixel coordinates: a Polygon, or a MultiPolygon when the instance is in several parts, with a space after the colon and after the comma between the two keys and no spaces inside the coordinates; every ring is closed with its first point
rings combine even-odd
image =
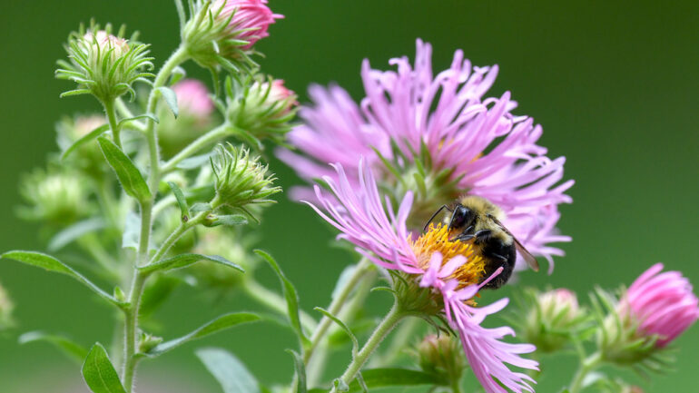
{"type": "Polygon", "coordinates": [[[199,0],[182,28],[182,43],[192,59],[206,68],[222,65],[237,72],[254,64],[252,46],[269,35],[282,16],[272,14],[267,0],[199,0]]]}

